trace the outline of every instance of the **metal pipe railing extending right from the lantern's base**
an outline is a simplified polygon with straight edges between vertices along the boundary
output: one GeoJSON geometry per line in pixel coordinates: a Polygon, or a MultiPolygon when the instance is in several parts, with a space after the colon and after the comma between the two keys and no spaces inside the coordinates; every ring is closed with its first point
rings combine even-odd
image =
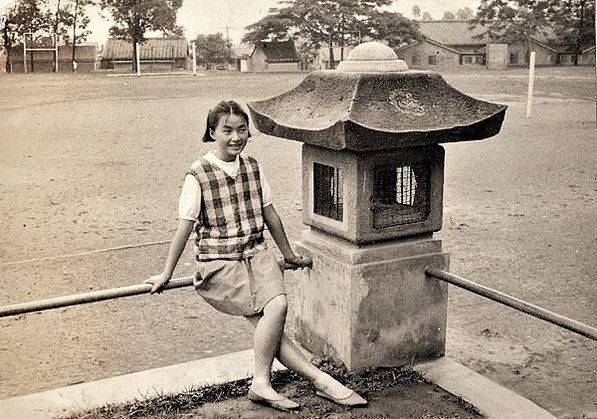
{"type": "Polygon", "coordinates": [[[571,332],[575,332],[590,339],[597,340],[597,328],[595,327],[569,319],[568,317],[561,316],[536,305],[529,304],[526,301],[519,300],[518,298],[514,298],[494,289],[476,284],[468,279],[460,278],[438,268],[427,267],[425,269],[425,273],[433,278],[445,281],[482,297],[489,298],[492,301],[512,307],[518,311],[522,311],[530,316],[563,327],[571,332]]]}

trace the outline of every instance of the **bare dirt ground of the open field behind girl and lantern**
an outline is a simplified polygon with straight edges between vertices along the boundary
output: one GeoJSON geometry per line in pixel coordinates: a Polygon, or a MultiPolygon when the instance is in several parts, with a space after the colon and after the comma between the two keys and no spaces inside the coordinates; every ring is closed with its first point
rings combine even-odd
{"type": "MultiPolygon", "coordinates": [[[[209,148],[199,143],[208,108],[304,76],[0,75],[0,305],[159,272],[184,173],[209,148]]],[[[509,106],[499,136],[445,146],[436,236],[450,270],[596,326],[595,69],[538,69],[531,119],[522,70],[444,77],[509,106]]],[[[300,144],[253,134],[247,152],[298,240],[300,144]]],[[[191,272],[187,251],[175,275],[191,272]]],[[[292,310],[300,284],[287,281],[292,310]]],[[[0,319],[0,336],[6,398],[245,349],[252,328],[186,289],[0,319]]],[[[597,418],[595,341],[452,287],[447,352],[558,417],[597,418]]]]}

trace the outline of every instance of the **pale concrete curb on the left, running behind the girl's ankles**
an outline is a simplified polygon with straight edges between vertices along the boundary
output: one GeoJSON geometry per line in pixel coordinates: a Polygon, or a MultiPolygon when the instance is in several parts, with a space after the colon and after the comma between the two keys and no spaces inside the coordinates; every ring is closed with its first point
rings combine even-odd
{"type": "MultiPolygon", "coordinates": [[[[191,388],[223,384],[252,376],[253,350],[204,358],[116,377],[0,400],[2,419],[47,419],[130,403],[191,388]]],[[[285,369],[275,362],[275,371],[285,369]]]]}

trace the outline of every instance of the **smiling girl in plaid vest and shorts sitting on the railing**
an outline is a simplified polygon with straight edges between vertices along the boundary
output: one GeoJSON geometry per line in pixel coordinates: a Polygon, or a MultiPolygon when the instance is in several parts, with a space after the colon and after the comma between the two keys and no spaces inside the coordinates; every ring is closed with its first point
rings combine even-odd
{"type": "Polygon", "coordinates": [[[194,229],[195,290],[217,310],[244,316],[255,327],[255,371],[249,399],[280,410],[299,408],[271,386],[276,357],[311,380],[320,397],[345,406],[365,406],[365,399],[317,369],[284,335],[284,278],[267,249],[264,227],[287,267],[304,268],[311,262],[290,247],[260,164],[241,154],[250,136],[249,116],[236,102],[223,101],[209,111],[203,141],[215,142],[215,150],[193,163],[187,173],[178,229],[164,271],[145,282],[153,285],[152,294],[161,291],[194,229]]]}

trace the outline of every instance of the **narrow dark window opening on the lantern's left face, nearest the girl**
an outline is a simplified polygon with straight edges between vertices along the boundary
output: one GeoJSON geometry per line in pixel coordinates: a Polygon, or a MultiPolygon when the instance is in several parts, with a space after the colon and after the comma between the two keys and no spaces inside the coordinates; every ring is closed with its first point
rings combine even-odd
{"type": "Polygon", "coordinates": [[[344,196],[342,169],[313,162],[313,212],[342,221],[344,196]]]}

